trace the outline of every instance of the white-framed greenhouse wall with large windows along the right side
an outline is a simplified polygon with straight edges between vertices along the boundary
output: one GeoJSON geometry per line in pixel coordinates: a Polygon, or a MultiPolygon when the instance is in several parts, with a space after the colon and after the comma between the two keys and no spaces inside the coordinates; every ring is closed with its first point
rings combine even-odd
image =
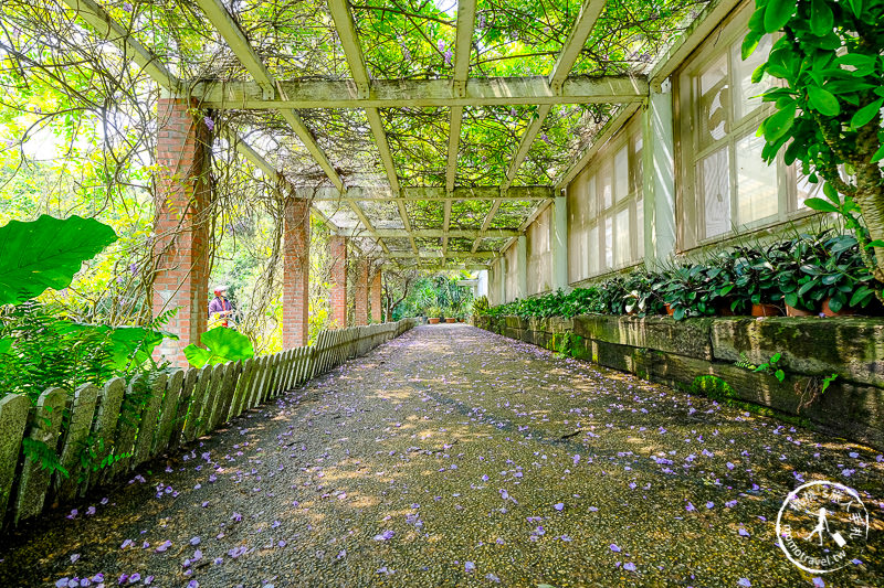
{"type": "MultiPolygon", "coordinates": [[[[741,3],[642,109],[614,121],[618,128],[564,188],[567,246],[558,255],[567,260],[568,286],[828,222],[803,205],[815,185],[796,165],[761,159],[756,130],[771,106],[757,96],[770,81],[751,84],[750,77],[772,39],[740,60],[753,6],[741,3]]],[[[492,275],[493,303],[555,289],[552,210],[526,229],[526,267],[518,263],[518,239],[504,252],[505,263],[492,275]],[[505,271],[503,296],[494,292],[498,271],[505,271]]]]}

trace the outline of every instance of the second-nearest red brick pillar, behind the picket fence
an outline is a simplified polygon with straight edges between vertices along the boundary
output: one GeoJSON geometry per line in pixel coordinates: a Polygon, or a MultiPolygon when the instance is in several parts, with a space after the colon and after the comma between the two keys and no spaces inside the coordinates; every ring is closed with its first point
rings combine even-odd
{"type": "Polygon", "coordinates": [[[288,199],[283,212],[283,349],[307,344],[309,325],[311,207],[288,199]]]}

